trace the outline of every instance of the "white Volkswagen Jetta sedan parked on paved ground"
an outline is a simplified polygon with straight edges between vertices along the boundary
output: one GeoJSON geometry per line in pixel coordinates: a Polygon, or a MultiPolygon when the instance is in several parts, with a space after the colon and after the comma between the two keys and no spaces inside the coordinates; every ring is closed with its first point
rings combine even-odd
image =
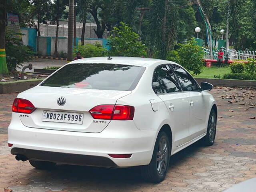
{"type": "Polygon", "coordinates": [[[200,139],[214,143],[211,89],[166,60],[76,60],[18,94],[8,146],[35,168],[140,166],[144,179],[161,182],[171,155],[200,139]]]}

